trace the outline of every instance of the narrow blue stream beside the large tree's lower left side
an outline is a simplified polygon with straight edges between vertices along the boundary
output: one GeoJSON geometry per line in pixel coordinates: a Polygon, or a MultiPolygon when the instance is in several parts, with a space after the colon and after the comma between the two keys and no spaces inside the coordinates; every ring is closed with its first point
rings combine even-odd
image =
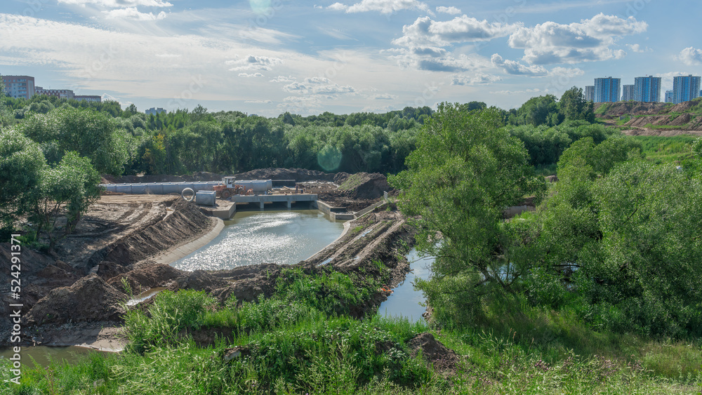
{"type": "Polygon", "coordinates": [[[378,314],[392,317],[406,317],[411,323],[423,319],[422,314],[426,307],[420,306],[425,302],[425,297],[420,290],[415,290],[412,283],[415,279],[429,279],[431,271],[429,266],[434,262],[434,257],[419,257],[417,250],[412,248],[406,255],[411,272],[407,273],[404,281],[393,289],[388,300],[380,304],[378,314]]]}

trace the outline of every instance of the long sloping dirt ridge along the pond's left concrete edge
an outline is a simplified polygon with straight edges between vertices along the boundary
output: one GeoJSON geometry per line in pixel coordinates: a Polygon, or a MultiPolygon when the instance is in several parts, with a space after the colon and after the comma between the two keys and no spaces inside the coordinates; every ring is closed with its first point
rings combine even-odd
{"type": "Polygon", "coordinates": [[[183,200],[173,203],[173,214],[110,245],[100,248],[86,261],[86,272],[100,262],[131,265],[190,240],[212,226],[211,218],[183,200]]]}

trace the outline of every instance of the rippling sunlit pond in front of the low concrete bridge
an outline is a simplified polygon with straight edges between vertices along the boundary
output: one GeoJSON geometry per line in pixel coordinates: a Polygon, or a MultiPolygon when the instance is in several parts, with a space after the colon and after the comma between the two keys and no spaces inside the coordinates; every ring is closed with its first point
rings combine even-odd
{"type": "Polygon", "coordinates": [[[239,211],[225,225],[208,245],[171,266],[192,271],[293,264],[329,245],[344,228],[318,210],[239,211]]]}

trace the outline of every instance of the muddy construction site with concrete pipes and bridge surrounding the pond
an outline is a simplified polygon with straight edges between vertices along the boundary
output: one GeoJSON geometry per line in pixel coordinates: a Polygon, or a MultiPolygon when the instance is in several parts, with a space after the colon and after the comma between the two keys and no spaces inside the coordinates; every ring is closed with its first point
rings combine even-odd
{"type": "MultiPolygon", "coordinates": [[[[386,275],[388,283],[369,305],[356,307],[355,315],[362,316],[366,309],[377,308],[409,271],[397,249],[413,243],[413,229],[388,200],[394,192],[385,176],[377,173],[262,169],[227,177],[204,173],[190,179],[132,176],[104,179],[102,186],[101,198],[52,254],[24,252],[25,345],[119,351],[126,344],[120,330],[125,302],[145,306],[150,303],[145,295],[159,290],[204,290],[221,303],[231,297],[251,302],[272,294],[283,267],[314,271],[325,265],[379,276],[372,261],[382,260],[392,268],[386,275]],[[193,271],[171,265],[216,241],[237,211],[298,209],[318,210],[324,221],[339,222],[338,236],[329,236],[336,239],[295,262],[262,259],[228,269],[193,271]],[[141,294],[141,299],[130,301],[128,291],[141,294]]],[[[7,259],[9,247],[0,244],[0,255],[7,259]]]]}

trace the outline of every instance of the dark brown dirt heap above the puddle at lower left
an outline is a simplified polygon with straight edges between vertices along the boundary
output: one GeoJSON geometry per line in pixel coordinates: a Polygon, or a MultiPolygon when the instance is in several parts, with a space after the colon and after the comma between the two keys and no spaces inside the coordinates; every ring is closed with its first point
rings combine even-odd
{"type": "Polygon", "coordinates": [[[124,294],[97,275],[86,276],[70,287],[56,288],[41,298],[25,316],[28,326],[48,323],[120,321],[124,294]]]}

